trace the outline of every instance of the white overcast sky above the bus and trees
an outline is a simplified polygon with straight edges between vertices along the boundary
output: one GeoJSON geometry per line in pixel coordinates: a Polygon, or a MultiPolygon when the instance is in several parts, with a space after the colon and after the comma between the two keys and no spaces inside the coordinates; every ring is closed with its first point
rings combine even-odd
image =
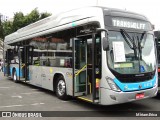
{"type": "Polygon", "coordinates": [[[155,30],[160,30],[160,0],[0,0],[0,13],[12,18],[16,12],[27,14],[38,8],[40,12],[55,14],[97,3],[143,14],[155,25],[155,30]]]}

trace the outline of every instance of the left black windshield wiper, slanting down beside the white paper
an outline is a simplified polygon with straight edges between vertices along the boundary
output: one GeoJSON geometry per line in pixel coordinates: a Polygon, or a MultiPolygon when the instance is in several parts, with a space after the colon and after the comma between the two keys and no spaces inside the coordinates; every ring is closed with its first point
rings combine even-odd
{"type": "Polygon", "coordinates": [[[133,39],[132,39],[124,29],[120,29],[120,30],[121,30],[121,34],[122,34],[124,40],[126,41],[126,43],[128,44],[128,46],[129,46],[132,50],[134,50],[135,58],[138,59],[138,58],[137,58],[137,48],[138,48],[138,47],[137,47],[136,44],[135,44],[134,37],[133,37],[133,39]],[[128,38],[128,39],[127,39],[127,38],[128,38]],[[132,43],[132,45],[131,45],[130,43],[132,43]],[[132,47],[132,46],[133,46],[133,47],[132,47]]]}

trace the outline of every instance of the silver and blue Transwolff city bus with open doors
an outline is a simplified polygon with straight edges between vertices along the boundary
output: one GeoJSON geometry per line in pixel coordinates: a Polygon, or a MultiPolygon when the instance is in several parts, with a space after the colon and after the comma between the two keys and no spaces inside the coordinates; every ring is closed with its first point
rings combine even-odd
{"type": "Polygon", "coordinates": [[[5,37],[5,75],[67,96],[111,105],[156,96],[151,23],[140,14],[85,7],[5,37]]]}

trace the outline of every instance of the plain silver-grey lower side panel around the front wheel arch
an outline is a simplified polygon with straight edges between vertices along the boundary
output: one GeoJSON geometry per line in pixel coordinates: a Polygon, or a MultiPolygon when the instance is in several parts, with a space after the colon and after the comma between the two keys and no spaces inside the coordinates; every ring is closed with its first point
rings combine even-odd
{"type": "Polygon", "coordinates": [[[29,66],[29,84],[53,91],[53,78],[55,74],[61,74],[67,85],[67,94],[72,95],[72,69],[46,66],[29,66]]]}

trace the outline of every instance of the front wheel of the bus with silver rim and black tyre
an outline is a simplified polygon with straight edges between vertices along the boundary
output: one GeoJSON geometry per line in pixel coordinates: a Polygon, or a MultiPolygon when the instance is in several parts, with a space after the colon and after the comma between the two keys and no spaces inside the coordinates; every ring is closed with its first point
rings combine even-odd
{"type": "Polygon", "coordinates": [[[66,94],[66,83],[64,78],[61,76],[57,80],[56,84],[56,95],[59,99],[66,100],[67,94],[66,94]]]}

